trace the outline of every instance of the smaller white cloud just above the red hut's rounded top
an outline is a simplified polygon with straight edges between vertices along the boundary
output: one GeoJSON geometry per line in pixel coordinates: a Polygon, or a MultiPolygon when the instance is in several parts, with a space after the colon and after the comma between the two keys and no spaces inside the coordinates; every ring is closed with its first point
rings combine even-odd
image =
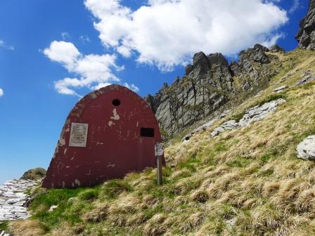
{"type": "Polygon", "coordinates": [[[110,81],[120,82],[113,74],[113,70],[123,70],[124,67],[116,65],[115,55],[82,55],[75,45],[66,41],[53,41],[44,54],[51,60],[61,63],[68,72],[75,74],[74,78],[64,78],[55,81],[58,93],[77,95],[76,89],[87,87],[98,89],[110,81]]]}

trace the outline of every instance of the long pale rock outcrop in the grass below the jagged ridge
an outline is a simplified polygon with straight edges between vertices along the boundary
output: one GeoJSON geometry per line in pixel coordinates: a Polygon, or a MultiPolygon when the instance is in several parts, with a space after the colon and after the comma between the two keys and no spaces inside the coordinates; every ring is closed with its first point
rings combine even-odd
{"type": "Polygon", "coordinates": [[[252,107],[245,112],[244,116],[242,117],[242,119],[240,119],[239,122],[236,122],[233,119],[229,120],[228,122],[225,122],[224,124],[221,124],[221,126],[214,129],[214,131],[212,131],[211,133],[211,136],[212,137],[218,136],[219,133],[222,133],[226,130],[236,129],[242,126],[248,126],[252,122],[257,122],[266,117],[266,115],[276,111],[277,106],[284,102],[285,102],[284,99],[279,98],[278,100],[273,100],[269,103],[264,103],[264,105],[260,107],[259,106],[252,107]]]}

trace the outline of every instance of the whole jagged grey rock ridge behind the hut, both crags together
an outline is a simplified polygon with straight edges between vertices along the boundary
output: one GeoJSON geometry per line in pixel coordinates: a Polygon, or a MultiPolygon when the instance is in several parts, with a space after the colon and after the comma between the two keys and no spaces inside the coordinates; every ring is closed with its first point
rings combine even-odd
{"type": "Polygon", "coordinates": [[[255,45],[242,51],[238,62],[229,65],[221,53],[196,53],[183,78],[165,84],[155,96],[146,96],[163,134],[173,135],[207,117],[243,91],[263,89],[277,72],[271,64],[278,60],[269,49],[255,45]],[[237,82],[234,81],[236,78],[237,82]]]}

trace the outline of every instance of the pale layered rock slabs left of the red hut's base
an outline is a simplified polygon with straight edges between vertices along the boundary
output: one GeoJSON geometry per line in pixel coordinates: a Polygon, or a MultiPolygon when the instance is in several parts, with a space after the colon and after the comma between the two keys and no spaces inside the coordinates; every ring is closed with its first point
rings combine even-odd
{"type": "Polygon", "coordinates": [[[1,185],[0,221],[28,218],[30,214],[24,206],[28,196],[24,192],[39,183],[40,181],[13,179],[1,185]]]}

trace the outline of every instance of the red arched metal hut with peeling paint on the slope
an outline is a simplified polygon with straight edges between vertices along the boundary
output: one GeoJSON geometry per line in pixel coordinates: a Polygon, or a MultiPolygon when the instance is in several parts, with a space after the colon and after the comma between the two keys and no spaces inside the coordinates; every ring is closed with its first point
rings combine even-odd
{"type": "Polygon", "coordinates": [[[105,86],[71,110],[42,186],[88,187],[156,167],[155,143],[160,142],[148,103],[124,86],[105,86]]]}

